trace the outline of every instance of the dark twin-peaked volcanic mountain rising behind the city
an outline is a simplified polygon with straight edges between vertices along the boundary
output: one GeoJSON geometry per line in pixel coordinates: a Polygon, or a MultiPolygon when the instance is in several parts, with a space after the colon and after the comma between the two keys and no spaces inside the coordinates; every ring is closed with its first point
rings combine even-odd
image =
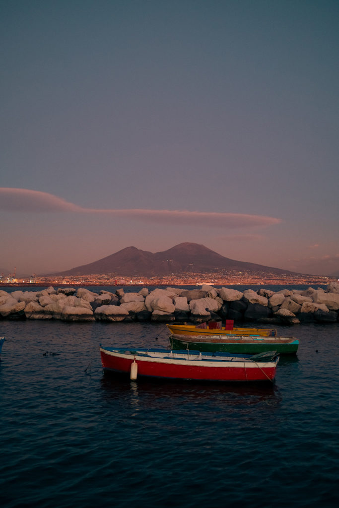
{"type": "Polygon", "coordinates": [[[77,266],[66,272],[50,275],[91,275],[115,273],[119,276],[164,276],[171,273],[184,272],[211,273],[220,270],[237,270],[266,273],[293,273],[280,268],[270,268],[255,263],[245,263],[225,258],[217,252],[198,243],[179,243],[162,252],[140,250],[136,247],[126,247],[106,258],[77,266]]]}

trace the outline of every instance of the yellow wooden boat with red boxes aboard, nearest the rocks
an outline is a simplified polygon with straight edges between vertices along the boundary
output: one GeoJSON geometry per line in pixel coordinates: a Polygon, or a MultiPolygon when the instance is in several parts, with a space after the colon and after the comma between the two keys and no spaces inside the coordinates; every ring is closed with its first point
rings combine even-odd
{"type": "Polygon", "coordinates": [[[210,322],[208,325],[166,325],[175,335],[257,335],[259,337],[276,337],[276,330],[267,328],[233,328],[233,321],[227,320],[225,327],[221,323],[210,322]],[[228,323],[230,321],[231,323],[228,323]]]}

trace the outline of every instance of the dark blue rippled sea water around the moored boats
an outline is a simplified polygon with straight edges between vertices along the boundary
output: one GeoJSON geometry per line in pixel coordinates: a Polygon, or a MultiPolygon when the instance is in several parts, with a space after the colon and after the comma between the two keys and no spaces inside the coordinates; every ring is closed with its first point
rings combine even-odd
{"type": "Polygon", "coordinates": [[[215,384],[104,376],[100,344],[164,324],[0,321],[0,506],[337,507],[339,323],[277,329],[300,345],[273,384],[215,384]]]}

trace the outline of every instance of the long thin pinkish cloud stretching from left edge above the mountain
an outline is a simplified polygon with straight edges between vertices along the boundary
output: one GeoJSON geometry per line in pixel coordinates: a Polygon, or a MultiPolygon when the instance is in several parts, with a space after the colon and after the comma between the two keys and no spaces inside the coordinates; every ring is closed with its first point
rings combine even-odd
{"type": "Polygon", "coordinates": [[[112,215],[169,225],[217,228],[266,227],[282,222],[279,218],[242,213],[198,212],[188,210],[97,209],[83,208],[39,190],[0,187],[0,209],[9,212],[68,212],[112,215]]]}

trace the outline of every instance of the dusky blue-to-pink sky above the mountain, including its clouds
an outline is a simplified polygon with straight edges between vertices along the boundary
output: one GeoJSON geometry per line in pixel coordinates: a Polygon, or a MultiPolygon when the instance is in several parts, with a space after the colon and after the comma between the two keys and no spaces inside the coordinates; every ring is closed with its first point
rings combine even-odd
{"type": "Polygon", "coordinates": [[[0,270],[339,274],[337,0],[0,0],[0,270]]]}

